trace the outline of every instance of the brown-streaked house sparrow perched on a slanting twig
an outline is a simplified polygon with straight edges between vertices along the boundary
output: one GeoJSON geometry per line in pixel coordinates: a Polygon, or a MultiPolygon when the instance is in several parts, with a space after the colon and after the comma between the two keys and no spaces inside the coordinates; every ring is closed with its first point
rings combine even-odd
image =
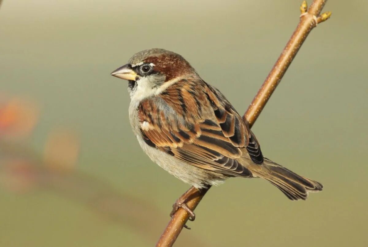
{"type": "MultiPolygon", "coordinates": [[[[144,152],[197,189],[230,177],[263,178],[291,200],[306,199],[322,184],[262,155],[252,131],[224,95],[180,55],[138,52],[111,75],[128,80],[129,119],[144,152]]],[[[194,219],[194,213],[179,202],[194,219]]]]}

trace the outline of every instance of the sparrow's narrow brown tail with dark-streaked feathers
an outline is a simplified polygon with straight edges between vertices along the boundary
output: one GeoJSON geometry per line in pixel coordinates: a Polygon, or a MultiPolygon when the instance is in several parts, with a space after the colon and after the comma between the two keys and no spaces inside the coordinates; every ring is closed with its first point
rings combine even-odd
{"type": "Polygon", "coordinates": [[[270,172],[260,177],[279,188],[290,200],[305,200],[309,191],[318,192],[323,188],[319,182],[302,177],[269,159],[265,159],[263,165],[270,172]]]}

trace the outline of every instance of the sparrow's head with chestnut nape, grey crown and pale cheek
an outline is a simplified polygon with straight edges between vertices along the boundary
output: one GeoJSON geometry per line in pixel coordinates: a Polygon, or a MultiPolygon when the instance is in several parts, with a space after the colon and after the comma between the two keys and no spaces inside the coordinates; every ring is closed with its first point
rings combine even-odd
{"type": "Polygon", "coordinates": [[[193,73],[192,66],[177,53],[149,49],[136,53],[111,75],[129,81],[131,97],[139,94],[139,98],[145,98],[162,92],[172,83],[193,73]]]}

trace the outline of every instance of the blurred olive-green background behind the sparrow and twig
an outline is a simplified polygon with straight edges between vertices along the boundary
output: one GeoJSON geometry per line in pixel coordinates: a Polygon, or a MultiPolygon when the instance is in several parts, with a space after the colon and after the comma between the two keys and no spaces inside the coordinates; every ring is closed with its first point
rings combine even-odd
{"type": "MultiPolygon", "coordinates": [[[[38,168],[26,166],[33,185],[21,193],[0,187],[0,246],[153,246],[189,186],[141,151],[127,83],[110,72],[143,49],[175,51],[243,114],[300,3],[4,0],[0,95],[32,99],[40,115],[29,137],[2,139],[0,166],[38,168]],[[72,171],[42,161],[58,126],[80,139],[72,171]]],[[[324,11],[331,19],[308,36],[253,127],[266,157],[323,192],[291,202],[266,181],[230,179],[208,192],[176,246],[368,246],[368,7],[336,0],[324,11]]]]}

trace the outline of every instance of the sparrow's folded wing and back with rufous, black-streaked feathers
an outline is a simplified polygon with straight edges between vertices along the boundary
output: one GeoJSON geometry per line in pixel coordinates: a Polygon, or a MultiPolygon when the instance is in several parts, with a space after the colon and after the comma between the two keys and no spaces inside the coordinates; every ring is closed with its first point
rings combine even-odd
{"type": "Polygon", "coordinates": [[[138,106],[145,142],[188,164],[229,176],[251,176],[238,163],[248,151],[263,156],[241,116],[215,88],[195,78],[171,85],[138,106]]]}

